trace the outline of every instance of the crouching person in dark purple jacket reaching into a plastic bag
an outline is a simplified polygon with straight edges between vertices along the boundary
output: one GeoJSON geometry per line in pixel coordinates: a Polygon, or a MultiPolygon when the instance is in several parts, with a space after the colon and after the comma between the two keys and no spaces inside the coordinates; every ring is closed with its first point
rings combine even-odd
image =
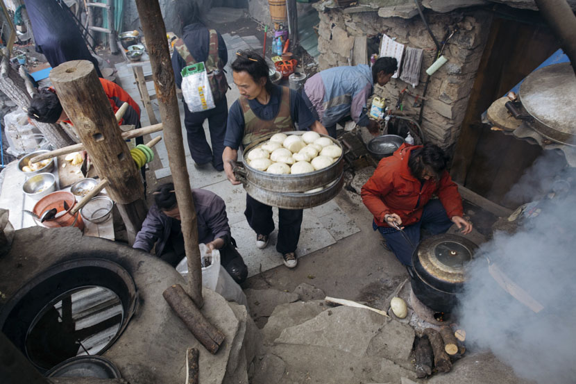
{"type": "MultiPolygon", "coordinates": [[[[156,256],[176,267],[186,255],[174,184],[160,185],[153,196],[155,204],[148,211],[132,247],[150,252],[156,244],[156,256]]],[[[198,220],[198,243],[206,244],[211,250],[218,249],[224,269],[237,283],[244,283],[248,267],[230,235],[223,199],[213,192],[194,188],[192,199],[198,220]]]]}

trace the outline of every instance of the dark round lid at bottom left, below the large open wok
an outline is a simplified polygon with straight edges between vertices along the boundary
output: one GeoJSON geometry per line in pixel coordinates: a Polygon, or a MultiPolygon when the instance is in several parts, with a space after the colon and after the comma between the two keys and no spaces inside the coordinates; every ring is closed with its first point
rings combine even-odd
{"type": "Polygon", "coordinates": [[[102,356],[69,358],[46,372],[46,377],[121,378],[113,362],[102,356]]]}

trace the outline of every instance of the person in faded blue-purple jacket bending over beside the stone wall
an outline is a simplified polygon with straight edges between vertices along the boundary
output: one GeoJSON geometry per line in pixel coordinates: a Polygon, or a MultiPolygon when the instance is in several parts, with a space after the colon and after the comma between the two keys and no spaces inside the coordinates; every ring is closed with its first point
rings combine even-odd
{"type": "Polygon", "coordinates": [[[395,58],[379,58],[374,65],[355,65],[324,69],[304,84],[302,97],[314,118],[336,138],[336,123],[350,114],[359,126],[378,132],[378,123],[370,120],[366,101],[375,84],[381,87],[398,69],[395,58]]]}

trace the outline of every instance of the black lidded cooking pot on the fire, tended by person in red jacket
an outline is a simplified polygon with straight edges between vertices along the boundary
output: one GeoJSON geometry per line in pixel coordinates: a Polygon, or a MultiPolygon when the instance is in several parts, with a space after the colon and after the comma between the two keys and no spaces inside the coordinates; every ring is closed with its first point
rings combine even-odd
{"type": "Polygon", "coordinates": [[[412,253],[412,291],[425,306],[451,312],[464,289],[465,269],[477,245],[458,235],[436,235],[422,240],[412,253]]]}

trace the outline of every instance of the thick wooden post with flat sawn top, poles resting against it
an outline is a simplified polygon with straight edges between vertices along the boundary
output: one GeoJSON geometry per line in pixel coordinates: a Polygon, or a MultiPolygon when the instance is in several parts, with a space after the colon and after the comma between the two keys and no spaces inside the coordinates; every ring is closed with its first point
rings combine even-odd
{"type": "Polygon", "coordinates": [[[128,242],[133,244],[146,218],[144,185],[94,65],[87,60],[63,62],[52,69],[50,80],[96,172],[110,182],[108,193],[117,203],[128,242]]]}

